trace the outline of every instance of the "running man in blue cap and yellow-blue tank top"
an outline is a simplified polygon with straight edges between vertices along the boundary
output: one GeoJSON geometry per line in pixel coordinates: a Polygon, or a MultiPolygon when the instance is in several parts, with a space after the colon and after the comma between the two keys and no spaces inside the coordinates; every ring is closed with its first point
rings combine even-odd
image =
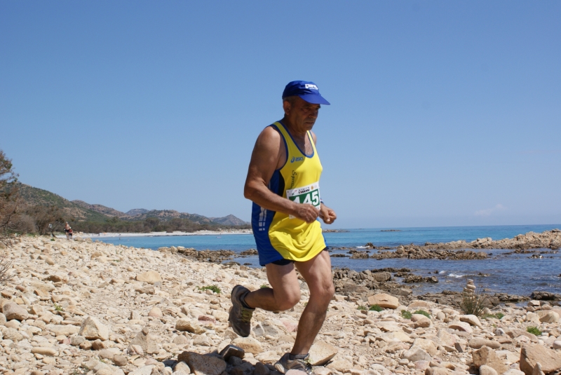
{"type": "Polygon", "coordinates": [[[310,299],[300,317],[290,353],[276,362],[311,373],[309,350],[316,339],[334,294],[331,259],[318,217],[325,224],[337,219],[320,199],[322,165],[311,132],[321,104],[327,102],[313,82],[293,81],[283,92],[282,120],[267,126],[253,149],[244,196],[253,201],[252,229],[259,264],[266,267],[271,287],[254,292],[242,285],[232,289],[229,321],[234,332],[249,336],[255,308],[285,311],[300,301],[296,269],[306,280],[310,299]]]}

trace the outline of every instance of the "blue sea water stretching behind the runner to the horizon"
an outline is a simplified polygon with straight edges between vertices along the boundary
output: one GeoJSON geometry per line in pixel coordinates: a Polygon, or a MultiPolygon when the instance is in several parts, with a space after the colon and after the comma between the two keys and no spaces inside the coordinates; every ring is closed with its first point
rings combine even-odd
{"type": "MultiPolygon", "coordinates": [[[[341,229],[323,233],[330,247],[351,247],[359,250],[367,243],[375,246],[397,247],[398,245],[424,243],[447,243],[456,240],[472,241],[490,237],[493,240],[513,238],[530,231],[541,233],[551,229],[561,229],[561,224],[517,225],[517,226],[443,226],[426,228],[377,228],[341,229]],[[392,231],[390,231],[392,230],[392,231]]],[[[101,237],[105,243],[144,247],[157,250],[158,247],[184,246],[196,250],[232,250],[236,253],[255,249],[252,234],[154,236],[154,237],[101,237]]],[[[529,296],[534,291],[561,294],[561,252],[543,254],[541,259],[529,258],[532,254],[505,254],[512,250],[486,249],[485,260],[440,260],[440,259],[349,259],[332,257],[334,268],[351,268],[356,271],[379,268],[409,268],[412,273],[422,276],[436,276],[438,283],[403,284],[413,289],[414,294],[461,291],[467,279],[474,280],[478,288],[487,292],[503,292],[529,296]]],[[[543,249],[543,252],[550,249],[543,249]]],[[[331,254],[347,254],[349,250],[332,250],[331,254]]],[[[370,250],[370,254],[377,250],[370,250]]],[[[239,256],[233,259],[249,267],[260,267],[257,256],[239,256]]],[[[396,279],[401,282],[400,278],[396,279]]]]}

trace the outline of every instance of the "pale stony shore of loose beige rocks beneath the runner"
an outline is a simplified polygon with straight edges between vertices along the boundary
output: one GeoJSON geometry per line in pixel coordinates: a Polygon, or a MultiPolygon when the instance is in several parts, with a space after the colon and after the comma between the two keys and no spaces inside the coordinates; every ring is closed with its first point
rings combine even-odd
{"type": "MultiPolygon", "coordinates": [[[[229,293],[266,286],[266,274],[176,250],[15,240],[1,290],[2,373],[278,374],[272,364],[295,339],[306,283],[295,308],[256,311],[241,338],[228,327],[229,293]],[[220,355],[229,344],[242,350],[220,355]]],[[[499,298],[478,319],[461,313],[457,296],[414,296],[391,280],[406,269],[369,272],[334,270],[337,293],[311,349],[316,374],[560,374],[561,308],[550,296],[524,307],[499,298]]]]}

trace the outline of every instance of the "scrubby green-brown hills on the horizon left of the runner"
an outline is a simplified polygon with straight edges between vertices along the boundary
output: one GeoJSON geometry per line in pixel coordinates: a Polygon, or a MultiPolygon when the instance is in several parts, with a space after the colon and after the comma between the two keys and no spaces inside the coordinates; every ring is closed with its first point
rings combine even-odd
{"type": "Polygon", "coordinates": [[[25,205],[55,205],[65,212],[69,220],[73,221],[103,222],[114,217],[125,221],[137,221],[149,217],[156,217],[161,221],[168,221],[175,218],[189,219],[197,224],[249,224],[232,214],[226,217],[205,217],[200,214],[189,214],[187,212],[178,212],[175,210],[145,210],[144,208],[135,208],[128,212],[121,212],[104,205],[92,205],[83,200],[70,201],[50,191],[38,189],[26,184],[18,184],[18,186],[20,189],[20,196],[25,205]]]}

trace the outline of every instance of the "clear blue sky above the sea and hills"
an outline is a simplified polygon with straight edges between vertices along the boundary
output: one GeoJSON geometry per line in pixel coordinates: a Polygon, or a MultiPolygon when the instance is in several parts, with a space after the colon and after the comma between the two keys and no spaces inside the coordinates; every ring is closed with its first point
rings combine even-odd
{"type": "Polygon", "coordinates": [[[0,149],[126,212],[249,221],[289,81],[333,228],[561,223],[560,1],[0,0],[0,149]]]}

